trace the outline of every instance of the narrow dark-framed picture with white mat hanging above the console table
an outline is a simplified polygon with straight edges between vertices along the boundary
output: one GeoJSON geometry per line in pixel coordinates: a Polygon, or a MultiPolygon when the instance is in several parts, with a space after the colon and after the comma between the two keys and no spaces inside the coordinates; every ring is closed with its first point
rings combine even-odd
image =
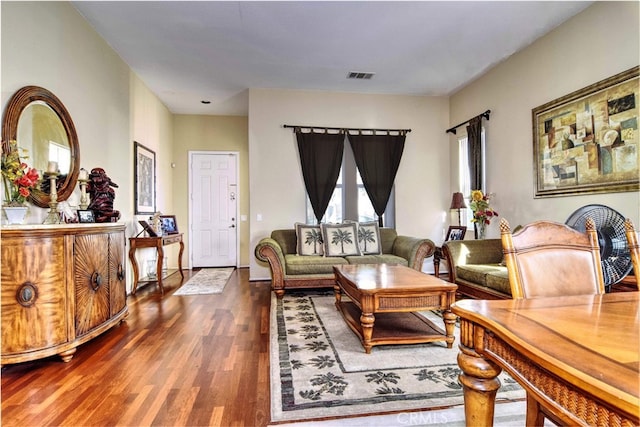
{"type": "Polygon", "coordinates": [[[156,212],[156,153],[134,141],[133,162],[135,213],[156,212]]]}

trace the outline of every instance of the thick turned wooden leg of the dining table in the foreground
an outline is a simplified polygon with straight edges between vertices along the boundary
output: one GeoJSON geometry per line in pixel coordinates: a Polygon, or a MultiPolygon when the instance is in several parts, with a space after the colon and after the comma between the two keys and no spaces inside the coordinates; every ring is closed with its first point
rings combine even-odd
{"type": "Polygon", "coordinates": [[[467,427],[493,426],[496,393],[500,388],[497,378],[502,368],[484,359],[474,350],[474,325],[464,319],[460,325],[460,353],[458,377],[464,390],[464,415],[467,427]]]}

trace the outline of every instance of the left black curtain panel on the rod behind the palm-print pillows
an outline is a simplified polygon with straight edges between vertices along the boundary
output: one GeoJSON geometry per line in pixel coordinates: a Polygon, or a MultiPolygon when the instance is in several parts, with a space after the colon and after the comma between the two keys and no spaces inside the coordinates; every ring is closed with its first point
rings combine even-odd
{"type": "Polygon", "coordinates": [[[344,132],[303,133],[299,129],[295,132],[304,185],[320,224],[340,175],[344,132]]]}

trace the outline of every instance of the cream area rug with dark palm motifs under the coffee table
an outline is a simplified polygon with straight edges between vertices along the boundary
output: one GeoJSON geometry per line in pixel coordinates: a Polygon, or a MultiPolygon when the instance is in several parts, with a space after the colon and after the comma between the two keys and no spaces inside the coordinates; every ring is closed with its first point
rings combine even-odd
{"type": "MultiPolygon", "coordinates": [[[[444,342],[375,346],[366,354],[337,311],[333,292],[271,300],[271,420],[293,421],[462,405],[459,328],[444,342]]],[[[443,325],[437,313],[423,313],[443,325]]],[[[501,374],[498,400],[524,390],[501,374]]]]}

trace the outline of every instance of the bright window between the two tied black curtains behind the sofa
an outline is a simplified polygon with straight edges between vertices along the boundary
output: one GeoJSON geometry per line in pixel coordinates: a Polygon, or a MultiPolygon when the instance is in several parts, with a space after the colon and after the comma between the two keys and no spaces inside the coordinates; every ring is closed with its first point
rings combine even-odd
{"type": "MultiPolygon", "coordinates": [[[[306,196],[307,224],[315,224],[316,217],[309,197],[306,196]]],[[[385,227],[395,227],[395,190],[391,191],[387,209],[382,216],[385,227]]],[[[364,189],[362,178],[356,167],[356,162],[351,152],[351,147],[345,144],[342,157],[342,167],[336,182],[327,211],[322,218],[323,223],[341,223],[345,219],[364,221],[377,221],[378,215],[373,210],[373,205],[367,191],[364,189]]]]}

